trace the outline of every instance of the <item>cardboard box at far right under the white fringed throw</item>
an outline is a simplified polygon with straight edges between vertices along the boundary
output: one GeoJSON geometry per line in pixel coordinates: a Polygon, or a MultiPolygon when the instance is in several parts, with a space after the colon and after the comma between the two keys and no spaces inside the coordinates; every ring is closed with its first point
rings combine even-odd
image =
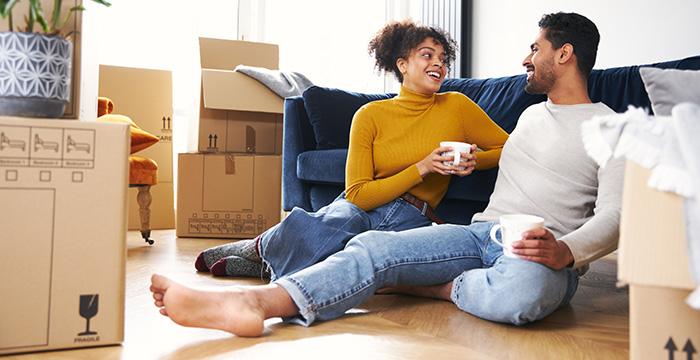
{"type": "Polygon", "coordinates": [[[685,303],[690,274],[683,199],[647,186],[650,171],[628,162],[618,278],[630,285],[632,359],[691,358],[700,349],[700,311],[685,303]]]}

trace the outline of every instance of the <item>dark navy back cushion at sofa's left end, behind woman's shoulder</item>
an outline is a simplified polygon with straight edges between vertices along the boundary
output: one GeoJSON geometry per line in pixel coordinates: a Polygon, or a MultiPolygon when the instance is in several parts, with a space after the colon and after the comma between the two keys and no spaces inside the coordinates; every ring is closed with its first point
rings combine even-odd
{"type": "Polygon", "coordinates": [[[340,89],[312,86],[304,91],[304,107],[314,129],[316,149],[347,149],[350,124],[357,109],[395,94],[360,94],[340,89]]]}

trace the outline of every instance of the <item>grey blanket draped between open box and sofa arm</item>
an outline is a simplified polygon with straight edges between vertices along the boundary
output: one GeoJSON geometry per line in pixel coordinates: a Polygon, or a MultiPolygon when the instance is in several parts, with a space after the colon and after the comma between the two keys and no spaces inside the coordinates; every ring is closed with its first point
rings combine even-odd
{"type": "Polygon", "coordinates": [[[314,85],[311,80],[298,72],[270,70],[247,65],[238,65],[234,71],[252,77],[283,98],[301,95],[304,90],[314,85]]]}

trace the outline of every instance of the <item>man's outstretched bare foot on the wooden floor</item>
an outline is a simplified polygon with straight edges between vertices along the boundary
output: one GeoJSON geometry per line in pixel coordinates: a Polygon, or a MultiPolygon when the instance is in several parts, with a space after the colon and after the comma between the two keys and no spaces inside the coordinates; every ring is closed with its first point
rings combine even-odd
{"type": "Polygon", "coordinates": [[[253,291],[236,287],[198,290],[153,274],[151,292],[160,313],[177,324],[238,336],[262,335],[265,313],[253,291]]]}

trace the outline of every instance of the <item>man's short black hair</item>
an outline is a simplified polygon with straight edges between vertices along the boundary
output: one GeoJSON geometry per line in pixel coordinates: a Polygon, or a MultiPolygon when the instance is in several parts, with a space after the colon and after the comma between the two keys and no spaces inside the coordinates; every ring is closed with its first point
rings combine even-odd
{"type": "Polygon", "coordinates": [[[600,34],[595,24],[583,15],[558,12],[545,14],[538,24],[545,31],[545,38],[555,49],[564,44],[574,47],[578,69],[584,79],[588,79],[598,53],[600,34]]]}

